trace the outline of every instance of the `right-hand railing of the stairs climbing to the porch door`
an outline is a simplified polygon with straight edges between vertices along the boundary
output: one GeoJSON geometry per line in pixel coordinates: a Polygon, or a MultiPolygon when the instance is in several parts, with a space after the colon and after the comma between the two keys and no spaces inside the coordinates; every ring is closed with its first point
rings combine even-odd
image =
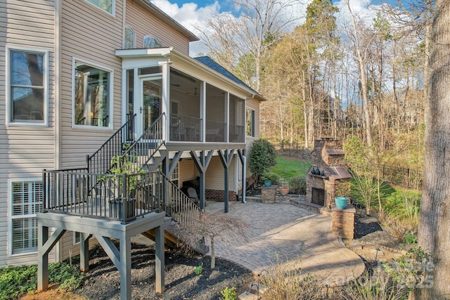
{"type": "Polygon", "coordinates": [[[122,157],[133,157],[136,170],[143,169],[164,144],[165,117],[162,113],[142,136],[124,150],[122,157]]]}

